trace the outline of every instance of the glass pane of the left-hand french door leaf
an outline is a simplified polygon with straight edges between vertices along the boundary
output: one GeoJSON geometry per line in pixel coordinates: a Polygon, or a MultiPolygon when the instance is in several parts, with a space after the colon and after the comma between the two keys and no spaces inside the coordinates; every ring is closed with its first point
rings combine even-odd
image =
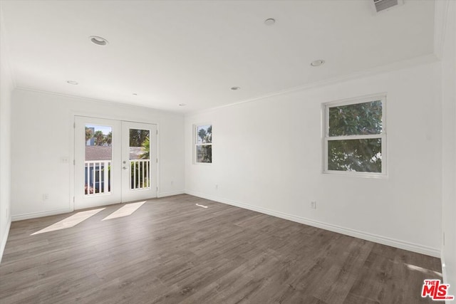
{"type": "Polygon", "coordinates": [[[113,127],[86,124],[84,194],[110,194],[113,127]]]}

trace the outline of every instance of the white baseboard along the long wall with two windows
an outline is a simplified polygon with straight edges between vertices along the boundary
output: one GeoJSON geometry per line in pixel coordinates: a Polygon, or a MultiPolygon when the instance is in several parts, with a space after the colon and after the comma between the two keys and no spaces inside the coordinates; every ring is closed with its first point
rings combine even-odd
{"type": "Polygon", "coordinates": [[[217,196],[210,196],[210,195],[206,195],[206,194],[202,194],[202,193],[198,193],[198,192],[192,192],[192,191],[186,191],[185,193],[193,195],[193,196],[198,196],[203,199],[210,199],[212,201],[218,201],[223,204],[229,204],[232,206],[237,206],[240,208],[261,212],[263,214],[276,216],[281,219],[288,219],[289,221],[296,221],[297,223],[306,224],[309,226],[314,226],[314,227],[325,229],[328,231],[337,232],[339,234],[346,234],[347,236],[353,236],[358,239],[363,239],[366,241],[373,241],[375,243],[381,243],[383,245],[392,246],[392,247],[396,247],[396,248],[400,248],[400,249],[404,249],[404,250],[408,250],[408,251],[413,251],[416,253],[422,253],[427,256],[434,256],[435,258],[440,258],[440,249],[438,249],[438,248],[432,248],[432,247],[423,246],[423,245],[416,244],[416,243],[410,243],[407,241],[391,239],[391,238],[388,238],[385,236],[378,236],[376,234],[369,234],[367,232],[349,229],[349,228],[345,228],[345,227],[337,226],[337,225],[333,225],[333,224],[327,224],[327,223],[323,223],[321,221],[314,221],[313,219],[306,219],[301,216],[294,216],[294,215],[286,214],[286,213],[280,212],[280,211],[274,211],[274,210],[262,208],[259,206],[253,206],[250,204],[244,204],[239,201],[222,199],[217,196]]]}

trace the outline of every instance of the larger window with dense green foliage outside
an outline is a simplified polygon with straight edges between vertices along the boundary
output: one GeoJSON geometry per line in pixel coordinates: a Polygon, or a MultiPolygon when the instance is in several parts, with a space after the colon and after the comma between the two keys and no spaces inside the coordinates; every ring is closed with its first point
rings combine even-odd
{"type": "Polygon", "coordinates": [[[324,172],[386,174],[385,96],[326,103],[324,172]]]}

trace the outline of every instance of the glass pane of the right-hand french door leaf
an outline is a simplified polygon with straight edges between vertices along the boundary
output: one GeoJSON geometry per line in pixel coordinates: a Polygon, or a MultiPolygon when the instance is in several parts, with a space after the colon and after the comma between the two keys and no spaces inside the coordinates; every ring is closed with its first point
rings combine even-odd
{"type": "Polygon", "coordinates": [[[150,130],[130,129],[130,190],[150,189],[150,130]]]}

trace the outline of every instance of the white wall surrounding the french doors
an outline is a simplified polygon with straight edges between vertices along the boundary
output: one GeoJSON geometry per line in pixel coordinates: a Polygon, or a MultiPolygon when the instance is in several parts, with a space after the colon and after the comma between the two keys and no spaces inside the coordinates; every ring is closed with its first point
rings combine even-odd
{"type": "Polygon", "coordinates": [[[73,115],[157,123],[159,196],[184,191],[184,117],[158,110],[15,90],[12,107],[13,220],[70,211],[73,115]],[[43,200],[43,194],[48,199],[43,200]]]}

